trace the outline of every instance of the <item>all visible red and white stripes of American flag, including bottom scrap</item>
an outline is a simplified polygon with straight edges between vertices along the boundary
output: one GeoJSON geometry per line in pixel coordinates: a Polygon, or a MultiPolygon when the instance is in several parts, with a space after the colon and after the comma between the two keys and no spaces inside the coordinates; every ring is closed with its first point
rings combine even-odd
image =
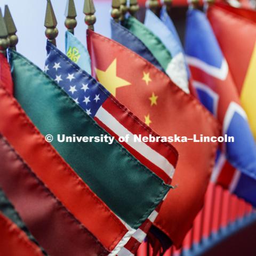
{"type": "MultiPolygon", "coordinates": [[[[94,117],[95,121],[117,140],[119,137],[130,135],[128,142],[120,142],[134,157],[154,172],[166,184],[170,184],[178,160],[175,148],[167,142],[134,142],[133,135],[149,134],[158,137],[145,123],[141,122],[129,110],[110,96],[99,108],[94,117]]],[[[154,223],[163,201],[151,212],[149,217],[137,229],[132,229],[126,223],[127,234],[118,243],[109,256],[133,256],[145,239],[151,225],[154,223]]]]}

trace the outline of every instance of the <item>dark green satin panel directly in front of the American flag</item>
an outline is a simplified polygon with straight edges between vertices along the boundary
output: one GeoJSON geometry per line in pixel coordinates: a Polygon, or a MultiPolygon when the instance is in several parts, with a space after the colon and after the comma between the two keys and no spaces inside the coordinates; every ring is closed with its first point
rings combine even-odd
{"type": "Polygon", "coordinates": [[[170,186],[117,141],[58,142],[58,134],[71,138],[110,135],[33,63],[15,51],[11,51],[11,62],[15,98],[39,131],[53,135],[51,143],[65,161],[112,211],[137,229],[170,186]]]}

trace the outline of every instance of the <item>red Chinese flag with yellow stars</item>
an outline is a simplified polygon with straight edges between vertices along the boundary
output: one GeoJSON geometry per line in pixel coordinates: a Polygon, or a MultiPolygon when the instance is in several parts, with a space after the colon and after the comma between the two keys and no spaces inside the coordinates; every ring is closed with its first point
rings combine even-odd
{"type": "MultiPolygon", "coordinates": [[[[139,55],[93,31],[87,31],[92,71],[108,91],[161,136],[218,136],[219,125],[193,96],[183,92],[139,55]]],[[[155,226],[180,246],[203,206],[217,143],[173,143],[177,172],[155,226]]]]}

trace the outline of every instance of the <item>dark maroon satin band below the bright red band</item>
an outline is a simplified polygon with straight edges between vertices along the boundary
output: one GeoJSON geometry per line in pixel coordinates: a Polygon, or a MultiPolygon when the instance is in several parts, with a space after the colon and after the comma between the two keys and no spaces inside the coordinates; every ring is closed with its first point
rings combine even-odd
{"type": "Polygon", "coordinates": [[[0,186],[31,233],[50,255],[109,254],[45,187],[3,137],[0,138],[0,164],[0,186]]]}

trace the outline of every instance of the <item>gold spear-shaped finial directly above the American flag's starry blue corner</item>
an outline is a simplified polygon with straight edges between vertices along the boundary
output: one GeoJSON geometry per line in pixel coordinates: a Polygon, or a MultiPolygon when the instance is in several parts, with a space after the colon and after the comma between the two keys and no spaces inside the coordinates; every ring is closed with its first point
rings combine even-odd
{"type": "Polygon", "coordinates": [[[44,26],[46,27],[45,35],[48,40],[56,46],[56,37],[59,34],[57,26],[57,20],[52,8],[51,0],[47,0],[47,7],[45,13],[44,26]]]}

